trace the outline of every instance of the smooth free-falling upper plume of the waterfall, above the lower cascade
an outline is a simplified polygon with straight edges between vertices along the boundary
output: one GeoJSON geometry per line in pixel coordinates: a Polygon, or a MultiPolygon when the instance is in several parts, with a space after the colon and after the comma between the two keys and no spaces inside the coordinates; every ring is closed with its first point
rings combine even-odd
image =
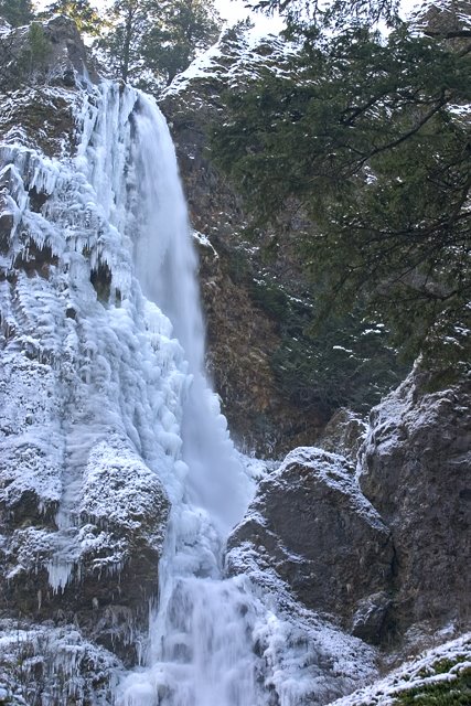
{"type": "Polygon", "coordinates": [[[189,498],[227,532],[247,505],[247,488],[204,375],[196,257],[175,151],[167,122],[150,97],[139,96],[132,118],[141,234],[136,244],[137,274],[146,297],[172,322],[192,375],[182,419],[189,498]]]}

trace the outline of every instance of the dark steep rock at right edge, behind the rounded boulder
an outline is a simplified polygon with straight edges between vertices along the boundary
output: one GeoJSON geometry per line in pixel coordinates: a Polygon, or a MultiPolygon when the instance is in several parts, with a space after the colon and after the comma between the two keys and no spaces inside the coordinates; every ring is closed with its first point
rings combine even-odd
{"type": "Polygon", "coordinates": [[[418,367],[373,410],[360,453],[360,485],[393,535],[399,634],[471,618],[471,383],[429,387],[418,367]]]}

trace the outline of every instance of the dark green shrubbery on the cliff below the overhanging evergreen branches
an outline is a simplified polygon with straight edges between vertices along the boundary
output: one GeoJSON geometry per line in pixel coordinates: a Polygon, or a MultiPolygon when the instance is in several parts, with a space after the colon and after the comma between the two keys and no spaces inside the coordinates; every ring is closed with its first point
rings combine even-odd
{"type": "Polygon", "coordinates": [[[364,414],[407,372],[385,327],[363,320],[358,310],[313,328],[313,292],[292,297],[266,277],[254,280],[251,297],[278,323],[281,343],[270,364],[280,389],[298,407],[327,418],[343,406],[364,414]]]}

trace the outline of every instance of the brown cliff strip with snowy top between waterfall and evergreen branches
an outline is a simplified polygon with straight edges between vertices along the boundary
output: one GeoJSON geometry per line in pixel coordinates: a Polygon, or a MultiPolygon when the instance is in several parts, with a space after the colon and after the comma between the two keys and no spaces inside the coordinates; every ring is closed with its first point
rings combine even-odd
{"type": "Polygon", "coordinates": [[[208,160],[207,129],[222,113],[221,93],[244,84],[253,73],[276,71],[286,51],[275,38],[251,42],[233,30],[160,100],[176,145],[192,223],[211,243],[200,248],[208,371],[238,446],[268,457],[312,442],[327,422],[322,409],[293,405],[280,391],[270,364],[281,342],[279,322],[254,296],[254,285],[267,268],[291,290],[293,282],[302,289],[303,278],[289,237],[282,253],[275,247],[272,261],[264,261],[260,243],[275,243],[275,236],[264,233],[258,243],[250,240],[249,216],[208,160]]]}

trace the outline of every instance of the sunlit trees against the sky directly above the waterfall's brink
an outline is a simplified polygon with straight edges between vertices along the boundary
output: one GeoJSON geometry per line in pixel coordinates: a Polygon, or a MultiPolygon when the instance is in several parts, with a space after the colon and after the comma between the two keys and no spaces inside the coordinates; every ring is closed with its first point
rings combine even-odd
{"type": "Polygon", "coordinates": [[[124,81],[165,85],[215,40],[218,28],[213,0],[116,0],[98,46],[124,81]]]}

